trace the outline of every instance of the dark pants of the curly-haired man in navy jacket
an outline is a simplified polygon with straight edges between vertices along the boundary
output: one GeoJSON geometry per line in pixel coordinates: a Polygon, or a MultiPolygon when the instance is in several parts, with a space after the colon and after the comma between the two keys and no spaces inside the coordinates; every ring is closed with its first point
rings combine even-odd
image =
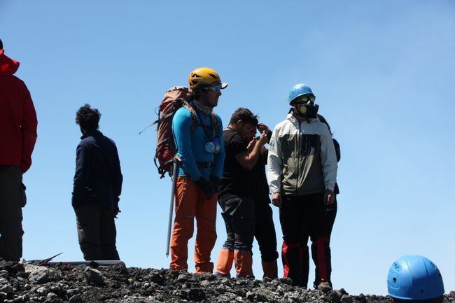
{"type": "Polygon", "coordinates": [[[113,211],[98,205],[82,204],[75,212],[79,246],[84,259],[120,260],[113,211]]]}

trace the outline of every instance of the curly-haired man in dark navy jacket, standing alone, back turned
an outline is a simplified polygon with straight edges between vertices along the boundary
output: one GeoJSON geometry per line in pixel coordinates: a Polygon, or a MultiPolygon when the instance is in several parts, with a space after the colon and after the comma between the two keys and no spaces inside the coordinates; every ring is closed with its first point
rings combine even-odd
{"type": "Polygon", "coordinates": [[[116,248],[123,176],[116,144],[99,132],[101,113],[85,104],[76,113],[83,136],[76,150],[73,209],[85,260],[120,260],[116,248]]]}

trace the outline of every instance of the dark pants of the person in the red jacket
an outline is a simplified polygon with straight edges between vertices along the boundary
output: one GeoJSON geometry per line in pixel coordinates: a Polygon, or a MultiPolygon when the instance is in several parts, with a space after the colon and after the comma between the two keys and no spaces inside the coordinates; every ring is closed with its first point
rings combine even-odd
{"type": "Polygon", "coordinates": [[[22,207],[25,187],[20,167],[0,165],[0,258],[22,258],[22,207]]]}

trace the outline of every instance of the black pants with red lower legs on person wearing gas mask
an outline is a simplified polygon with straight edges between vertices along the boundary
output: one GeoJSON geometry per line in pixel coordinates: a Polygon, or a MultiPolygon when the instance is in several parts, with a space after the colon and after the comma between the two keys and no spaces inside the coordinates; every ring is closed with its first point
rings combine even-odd
{"type": "Polygon", "coordinates": [[[309,274],[308,239],[311,256],[318,267],[318,279],[330,281],[332,272],[323,193],[283,196],[280,223],[283,231],[282,260],[284,276],[293,285],[307,287],[309,274]]]}

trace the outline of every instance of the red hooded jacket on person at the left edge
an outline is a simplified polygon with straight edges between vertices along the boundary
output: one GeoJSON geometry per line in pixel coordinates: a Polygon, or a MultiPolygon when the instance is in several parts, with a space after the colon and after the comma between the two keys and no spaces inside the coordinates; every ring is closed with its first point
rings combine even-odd
{"type": "Polygon", "coordinates": [[[13,76],[19,62],[0,50],[0,164],[25,173],[36,142],[36,112],[25,83],[13,76]]]}

